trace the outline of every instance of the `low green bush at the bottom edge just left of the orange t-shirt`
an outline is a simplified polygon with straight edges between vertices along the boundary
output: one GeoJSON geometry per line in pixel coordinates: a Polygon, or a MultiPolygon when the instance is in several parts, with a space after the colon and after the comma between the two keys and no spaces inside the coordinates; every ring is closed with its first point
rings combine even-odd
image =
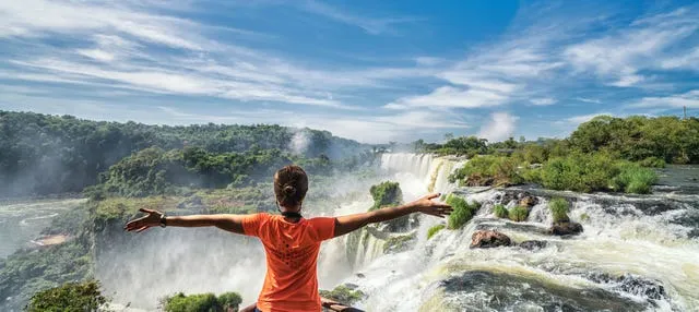
{"type": "Polygon", "coordinates": [[[185,296],[179,292],[163,300],[165,312],[226,312],[238,311],[242,302],[240,295],[226,292],[218,297],[213,293],[198,293],[185,296]]]}

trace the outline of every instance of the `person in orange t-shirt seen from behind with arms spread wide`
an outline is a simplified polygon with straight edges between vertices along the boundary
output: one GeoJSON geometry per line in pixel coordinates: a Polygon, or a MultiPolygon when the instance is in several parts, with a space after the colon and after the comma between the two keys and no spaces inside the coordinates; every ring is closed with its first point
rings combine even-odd
{"type": "Polygon", "coordinates": [[[306,219],[300,212],[308,191],[308,176],[298,166],[286,166],[274,175],[274,194],[282,215],[193,215],[166,217],[140,209],[147,216],[127,224],[126,230],[142,232],[151,227],[217,227],[235,233],[258,237],[266,254],[266,276],[254,311],[321,311],[316,265],[320,243],[362,227],[412,213],[445,217],[449,205],[433,202],[439,194],[412,203],[341,217],[306,219]]]}

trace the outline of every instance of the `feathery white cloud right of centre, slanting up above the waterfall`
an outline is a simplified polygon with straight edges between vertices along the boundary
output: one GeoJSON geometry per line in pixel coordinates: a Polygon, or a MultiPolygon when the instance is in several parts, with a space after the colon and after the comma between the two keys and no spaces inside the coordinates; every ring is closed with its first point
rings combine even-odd
{"type": "Polygon", "coordinates": [[[541,83],[564,63],[556,59],[553,44],[558,34],[535,33],[531,28],[471,49],[464,59],[436,73],[436,77],[443,80],[446,85],[428,94],[398,98],[386,107],[482,108],[541,96],[538,93],[548,91],[548,86],[541,83]]]}

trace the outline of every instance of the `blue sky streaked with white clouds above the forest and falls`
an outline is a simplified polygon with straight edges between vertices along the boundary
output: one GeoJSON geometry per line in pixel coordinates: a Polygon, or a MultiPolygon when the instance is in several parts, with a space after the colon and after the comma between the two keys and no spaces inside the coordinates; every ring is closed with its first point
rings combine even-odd
{"type": "Polygon", "coordinates": [[[699,113],[696,1],[0,1],[0,109],[360,142],[699,113]]]}

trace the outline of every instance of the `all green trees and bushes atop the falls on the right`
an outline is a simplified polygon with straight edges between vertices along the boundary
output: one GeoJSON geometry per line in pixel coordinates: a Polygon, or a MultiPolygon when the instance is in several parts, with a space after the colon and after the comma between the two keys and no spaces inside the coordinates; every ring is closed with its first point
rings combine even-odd
{"type": "Polygon", "coordinates": [[[488,143],[462,136],[445,144],[416,141],[413,147],[473,158],[450,177],[462,185],[535,183],[553,190],[645,194],[657,181],[648,167],[699,164],[699,119],[601,116],[564,140],[488,143]]]}

